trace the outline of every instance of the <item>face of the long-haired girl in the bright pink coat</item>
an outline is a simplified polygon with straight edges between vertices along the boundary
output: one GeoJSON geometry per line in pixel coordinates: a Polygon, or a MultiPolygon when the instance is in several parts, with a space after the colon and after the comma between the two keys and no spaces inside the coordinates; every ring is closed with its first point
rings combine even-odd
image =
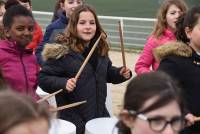
{"type": "Polygon", "coordinates": [[[176,22],[178,21],[181,13],[182,11],[176,5],[169,6],[166,14],[168,28],[176,30],[176,22]]]}

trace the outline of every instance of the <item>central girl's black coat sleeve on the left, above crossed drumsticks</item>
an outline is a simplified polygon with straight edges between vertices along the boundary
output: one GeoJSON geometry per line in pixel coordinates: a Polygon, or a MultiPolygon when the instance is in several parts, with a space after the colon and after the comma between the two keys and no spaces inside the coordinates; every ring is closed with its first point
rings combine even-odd
{"type": "Polygon", "coordinates": [[[58,62],[46,62],[39,74],[39,86],[48,93],[66,89],[65,70],[58,62]]]}

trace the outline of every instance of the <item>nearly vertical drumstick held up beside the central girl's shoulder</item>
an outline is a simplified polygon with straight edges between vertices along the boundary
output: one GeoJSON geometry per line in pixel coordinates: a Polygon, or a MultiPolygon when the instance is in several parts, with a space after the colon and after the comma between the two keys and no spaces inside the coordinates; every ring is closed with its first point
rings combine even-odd
{"type": "Polygon", "coordinates": [[[126,68],[126,60],[125,60],[125,53],[124,53],[124,39],[123,39],[123,33],[122,33],[122,24],[121,21],[119,21],[119,36],[120,36],[120,46],[121,46],[121,52],[122,52],[122,61],[123,66],[126,68]]]}

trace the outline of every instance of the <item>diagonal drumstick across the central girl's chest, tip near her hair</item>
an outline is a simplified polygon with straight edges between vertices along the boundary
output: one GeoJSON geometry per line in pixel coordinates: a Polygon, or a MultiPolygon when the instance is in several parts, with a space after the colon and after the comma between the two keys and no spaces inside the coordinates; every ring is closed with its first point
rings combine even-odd
{"type": "Polygon", "coordinates": [[[88,60],[90,59],[92,53],[94,52],[94,50],[95,50],[97,44],[98,44],[99,41],[100,41],[100,39],[101,39],[101,34],[100,34],[99,38],[97,39],[97,41],[94,43],[94,46],[93,46],[92,49],[90,50],[88,56],[86,57],[85,61],[84,61],[83,64],[81,65],[81,67],[80,67],[78,73],[76,74],[76,76],[75,76],[75,79],[76,79],[76,80],[79,78],[79,76],[80,76],[81,72],[83,71],[85,65],[88,63],[88,60]]]}

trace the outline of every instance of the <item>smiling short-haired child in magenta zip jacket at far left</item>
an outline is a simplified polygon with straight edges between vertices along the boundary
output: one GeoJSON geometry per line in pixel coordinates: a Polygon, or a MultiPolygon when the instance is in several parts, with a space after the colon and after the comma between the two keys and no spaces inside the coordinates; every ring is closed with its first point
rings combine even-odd
{"type": "Polygon", "coordinates": [[[0,41],[0,68],[11,89],[37,100],[39,67],[33,51],[26,49],[32,41],[34,24],[25,7],[16,5],[6,10],[3,18],[6,39],[0,41]]]}

